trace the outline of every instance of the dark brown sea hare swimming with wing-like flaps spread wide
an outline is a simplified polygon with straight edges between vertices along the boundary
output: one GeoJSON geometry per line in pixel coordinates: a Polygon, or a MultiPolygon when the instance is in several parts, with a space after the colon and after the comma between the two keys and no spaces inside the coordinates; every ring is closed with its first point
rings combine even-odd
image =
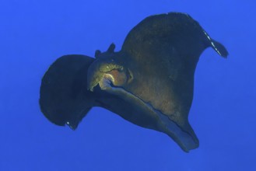
{"type": "Polygon", "coordinates": [[[188,152],[199,145],[188,113],[195,68],[207,47],[228,54],[186,14],[149,16],[128,33],[121,51],[111,44],[95,59],[68,55],[55,61],[42,79],[41,110],[54,124],[75,129],[91,107],[101,106],[169,135],[188,152]]]}

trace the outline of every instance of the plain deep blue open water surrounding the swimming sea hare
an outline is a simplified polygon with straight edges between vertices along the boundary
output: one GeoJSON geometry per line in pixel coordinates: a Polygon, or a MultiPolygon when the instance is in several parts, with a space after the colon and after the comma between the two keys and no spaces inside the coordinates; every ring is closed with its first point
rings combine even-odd
{"type": "Polygon", "coordinates": [[[0,2],[0,170],[256,170],[256,10],[252,0],[0,2]],[[189,120],[200,146],[93,108],[76,131],[51,124],[40,79],[63,54],[94,55],[146,16],[188,12],[230,55],[212,49],[195,72],[189,120]]]}

